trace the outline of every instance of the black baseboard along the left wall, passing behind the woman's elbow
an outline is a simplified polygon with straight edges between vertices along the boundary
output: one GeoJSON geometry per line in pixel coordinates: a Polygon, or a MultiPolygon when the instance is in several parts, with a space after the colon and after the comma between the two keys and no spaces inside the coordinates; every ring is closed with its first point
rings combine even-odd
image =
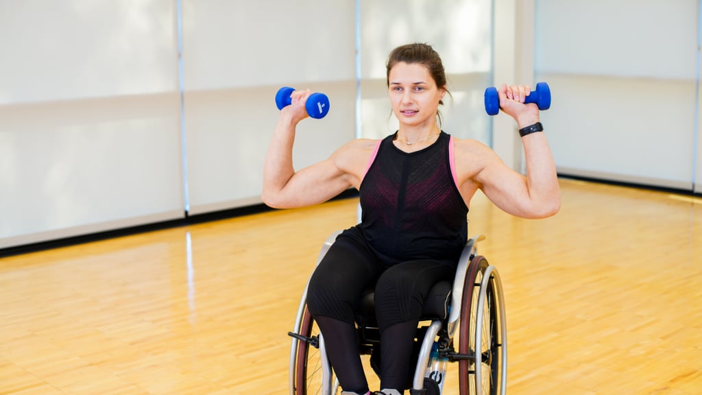
{"type": "MultiPolygon", "coordinates": [[[[345,190],[343,193],[340,193],[338,196],[333,197],[333,199],[331,199],[331,200],[347,199],[350,197],[357,197],[357,196],[358,196],[357,190],[349,189],[349,190],[345,190]]],[[[59,247],[67,247],[69,245],[78,245],[78,244],[83,244],[86,242],[106,240],[106,239],[110,239],[110,238],[119,238],[122,236],[135,235],[138,233],[161,231],[161,230],[168,229],[168,228],[176,228],[178,226],[202,224],[204,222],[218,221],[220,219],[230,219],[230,218],[234,218],[237,216],[258,214],[258,213],[270,212],[270,211],[274,211],[274,210],[275,209],[272,209],[272,208],[268,207],[267,205],[260,203],[258,205],[237,207],[234,209],[225,209],[225,210],[220,210],[217,212],[208,212],[208,213],[197,214],[197,215],[187,215],[187,213],[185,213],[183,218],[180,218],[180,219],[172,219],[169,221],[161,221],[161,222],[156,222],[153,224],[130,226],[128,228],[119,228],[119,229],[113,229],[110,231],[90,233],[87,235],[77,235],[77,236],[72,236],[72,237],[68,237],[68,238],[60,238],[60,239],[56,239],[56,240],[35,242],[35,243],[27,244],[27,245],[18,245],[15,247],[7,247],[4,249],[0,249],[0,258],[10,257],[12,255],[27,254],[29,252],[51,250],[53,248],[59,248],[59,247]]]]}

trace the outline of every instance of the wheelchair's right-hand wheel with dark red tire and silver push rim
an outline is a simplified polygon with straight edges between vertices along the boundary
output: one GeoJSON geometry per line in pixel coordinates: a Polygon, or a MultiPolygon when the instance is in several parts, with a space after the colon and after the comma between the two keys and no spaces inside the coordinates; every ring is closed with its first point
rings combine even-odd
{"type": "Polygon", "coordinates": [[[465,275],[458,351],[461,395],[505,394],[507,330],[500,276],[484,257],[472,259],[465,275]],[[479,344],[476,344],[479,342],[479,344]]]}

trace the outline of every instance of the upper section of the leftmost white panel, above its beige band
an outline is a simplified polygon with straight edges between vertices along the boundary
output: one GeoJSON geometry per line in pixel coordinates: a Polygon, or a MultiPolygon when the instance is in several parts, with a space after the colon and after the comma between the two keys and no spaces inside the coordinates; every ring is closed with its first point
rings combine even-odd
{"type": "Polygon", "coordinates": [[[1,1],[0,105],[175,91],[175,2],[1,1]]]}

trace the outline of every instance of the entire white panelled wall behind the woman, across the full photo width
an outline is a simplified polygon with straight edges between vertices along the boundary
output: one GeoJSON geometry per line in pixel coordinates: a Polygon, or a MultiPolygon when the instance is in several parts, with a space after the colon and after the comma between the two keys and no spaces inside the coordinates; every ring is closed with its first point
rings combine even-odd
{"type": "Polygon", "coordinates": [[[444,130],[511,167],[521,143],[511,119],[485,115],[484,89],[546,81],[559,171],[701,192],[697,4],[0,1],[0,248],[260,202],[275,91],[331,99],[300,124],[303,167],[395,131],[385,61],[411,41],[444,60],[444,130]]]}

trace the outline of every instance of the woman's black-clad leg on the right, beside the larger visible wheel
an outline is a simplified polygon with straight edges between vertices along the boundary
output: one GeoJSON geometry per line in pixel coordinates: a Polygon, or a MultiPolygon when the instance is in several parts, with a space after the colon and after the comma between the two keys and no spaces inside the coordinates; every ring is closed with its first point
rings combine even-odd
{"type": "Polygon", "coordinates": [[[410,373],[411,351],[424,300],[432,286],[452,280],[456,268],[430,261],[408,261],[388,268],[376,284],[376,317],[380,328],[380,388],[403,393],[410,373]]]}

